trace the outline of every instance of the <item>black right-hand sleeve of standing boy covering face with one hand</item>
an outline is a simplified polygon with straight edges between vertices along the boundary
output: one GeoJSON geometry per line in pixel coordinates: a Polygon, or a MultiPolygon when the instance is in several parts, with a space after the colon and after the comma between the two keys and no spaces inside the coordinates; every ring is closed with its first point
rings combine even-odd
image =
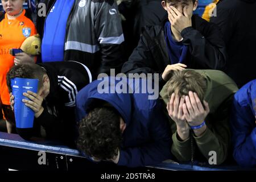
{"type": "MultiPolygon", "coordinates": [[[[205,27],[207,35],[202,35],[193,27],[181,31],[183,44],[189,47],[189,52],[197,65],[204,69],[223,69],[226,64],[225,43],[219,28],[213,23],[205,27]]],[[[202,24],[202,26],[205,26],[202,24]]]]}

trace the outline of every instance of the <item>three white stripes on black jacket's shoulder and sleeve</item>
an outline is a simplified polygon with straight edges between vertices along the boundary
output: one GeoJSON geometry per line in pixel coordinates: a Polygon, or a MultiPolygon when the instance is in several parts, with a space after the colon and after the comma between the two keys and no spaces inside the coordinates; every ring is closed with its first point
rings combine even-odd
{"type": "Polygon", "coordinates": [[[75,107],[77,94],[76,85],[65,76],[58,76],[58,85],[68,92],[69,102],[65,103],[65,106],[75,107]]]}

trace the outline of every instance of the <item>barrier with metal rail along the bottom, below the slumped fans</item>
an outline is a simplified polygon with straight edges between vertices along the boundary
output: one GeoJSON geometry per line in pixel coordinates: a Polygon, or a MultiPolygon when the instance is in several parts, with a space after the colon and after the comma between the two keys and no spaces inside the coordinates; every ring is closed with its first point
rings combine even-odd
{"type": "MultiPolygon", "coordinates": [[[[61,170],[61,171],[118,171],[127,172],[127,167],[120,167],[110,162],[93,163],[80,154],[79,151],[60,146],[56,141],[47,141],[32,138],[26,141],[16,134],[0,133],[0,169],[11,168],[16,170],[61,170]],[[46,163],[39,162],[46,157],[46,163]]],[[[226,171],[226,170],[256,170],[256,168],[242,168],[238,166],[210,166],[195,163],[177,164],[171,160],[154,166],[136,168],[142,171],[226,171]]],[[[134,170],[134,169],[132,169],[134,170]]]]}

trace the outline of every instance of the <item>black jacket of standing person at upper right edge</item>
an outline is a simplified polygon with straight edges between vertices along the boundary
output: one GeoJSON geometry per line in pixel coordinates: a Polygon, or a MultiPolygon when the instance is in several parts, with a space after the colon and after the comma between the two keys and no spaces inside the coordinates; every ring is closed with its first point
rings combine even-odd
{"type": "Polygon", "coordinates": [[[217,5],[216,23],[228,52],[225,72],[238,87],[256,78],[256,0],[225,0],[217,5]]]}

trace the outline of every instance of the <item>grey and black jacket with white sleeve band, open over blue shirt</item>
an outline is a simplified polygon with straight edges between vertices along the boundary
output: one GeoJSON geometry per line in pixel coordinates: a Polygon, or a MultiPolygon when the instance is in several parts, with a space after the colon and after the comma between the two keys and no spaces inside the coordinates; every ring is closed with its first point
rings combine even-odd
{"type": "MultiPolygon", "coordinates": [[[[46,21],[46,18],[51,11],[53,5],[55,4],[56,0],[41,0],[39,3],[45,3],[46,5],[46,16],[38,16],[36,21],[36,28],[38,30],[38,33],[42,36],[44,35],[44,23],[46,21]]],[[[81,44],[79,48],[82,50],[86,49],[82,47],[83,45],[89,45],[91,47],[97,46],[98,50],[96,52],[88,52],[88,51],[81,51],[79,49],[66,49],[64,52],[64,60],[75,60],[79,61],[82,64],[85,64],[90,71],[92,71],[93,78],[97,78],[98,74],[100,73],[110,73],[110,69],[114,68],[116,73],[119,73],[122,68],[123,59],[122,59],[122,51],[123,51],[123,44],[122,43],[102,43],[100,44],[100,38],[105,38],[106,35],[114,34],[113,32],[119,31],[120,34],[122,34],[122,27],[121,27],[121,20],[118,22],[117,18],[113,18],[114,16],[111,16],[112,18],[109,18],[109,9],[114,9],[115,4],[113,0],[108,1],[86,1],[86,6],[83,7],[83,9],[90,10],[91,12],[85,12],[85,14],[77,14],[77,7],[79,8],[79,0],[76,0],[74,2],[73,8],[71,10],[71,13],[69,14],[68,20],[67,20],[67,27],[66,27],[66,38],[65,38],[65,44],[67,42],[78,42],[73,40],[73,38],[70,38],[70,35],[68,32],[75,32],[77,36],[79,36],[79,40],[81,40],[81,44]],[[94,6],[95,5],[95,6],[94,6]],[[98,11],[100,13],[98,13],[98,11]],[[93,13],[98,13],[97,18],[94,17],[93,13]],[[78,20],[80,24],[76,24],[74,27],[72,25],[74,17],[79,16],[81,19],[78,20]],[[95,18],[95,19],[94,19],[95,18]],[[82,23],[81,23],[82,22],[82,23]],[[82,27],[82,24],[88,23],[88,26],[86,28],[82,27]],[[93,23],[96,23],[93,24],[93,23]],[[100,24],[101,23],[101,24],[100,24]],[[72,29],[72,31],[69,31],[72,29]],[[106,29],[112,29],[110,31],[106,32],[106,29]],[[105,31],[105,32],[103,32],[105,31]],[[112,32],[112,33],[111,33],[112,32]],[[89,37],[88,40],[92,42],[84,42],[84,38],[89,37]],[[72,40],[70,40],[72,39],[72,40]]],[[[42,10],[38,9],[38,11],[42,12],[42,10]]],[[[119,36],[119,35],[118,35],[119,36]]],[[[63,49],[65,49],[63,47],[63,49]]],[[[42,61],[39,57],[39,62],[42,61]]],[[[55,60],[52,60],[55,61],[55,60]]]]}

